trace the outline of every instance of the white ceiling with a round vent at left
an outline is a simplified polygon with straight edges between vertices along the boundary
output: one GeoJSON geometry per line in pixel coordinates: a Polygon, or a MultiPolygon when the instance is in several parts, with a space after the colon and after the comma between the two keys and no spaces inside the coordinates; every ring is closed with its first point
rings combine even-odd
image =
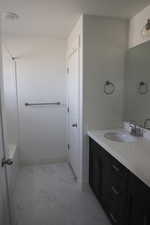
{"type": "Polygon", "coordinates": [[[19,14],[3,20],[3,32],[65,38],[81,13],[130,18],[150,0],[0,0],[1,11],[19,14]]]}

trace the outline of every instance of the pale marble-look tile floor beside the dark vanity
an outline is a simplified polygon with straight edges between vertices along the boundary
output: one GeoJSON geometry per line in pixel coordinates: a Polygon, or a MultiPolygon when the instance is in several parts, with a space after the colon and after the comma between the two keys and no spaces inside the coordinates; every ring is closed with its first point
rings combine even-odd
{"type": "Polygon", "coordinates": [[[15,225],[110,225],[92,192],[81,192],[65,163],[21,169],[15,225]]]}

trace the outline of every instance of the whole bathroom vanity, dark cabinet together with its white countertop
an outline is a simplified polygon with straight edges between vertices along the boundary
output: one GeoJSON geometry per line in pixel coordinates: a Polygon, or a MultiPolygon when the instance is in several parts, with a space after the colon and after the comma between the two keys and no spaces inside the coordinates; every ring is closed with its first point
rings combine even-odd
{"type": "Polygon", "coordinates": [[[89,135],[89,183],[113,225],[150,225],[150,141],[89,135]]]}

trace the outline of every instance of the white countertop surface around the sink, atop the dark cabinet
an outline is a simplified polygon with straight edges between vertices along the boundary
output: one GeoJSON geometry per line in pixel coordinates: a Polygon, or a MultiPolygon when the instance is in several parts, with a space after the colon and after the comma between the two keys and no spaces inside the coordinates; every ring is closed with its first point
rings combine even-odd
{"type": "Polygon", "coordinates": [[[127,143],[110,141],[104,137],[106,132],[122,130],[88,131],[88,136],[150,187],[150,140],[139,137],[136,142],[127,143]]]}

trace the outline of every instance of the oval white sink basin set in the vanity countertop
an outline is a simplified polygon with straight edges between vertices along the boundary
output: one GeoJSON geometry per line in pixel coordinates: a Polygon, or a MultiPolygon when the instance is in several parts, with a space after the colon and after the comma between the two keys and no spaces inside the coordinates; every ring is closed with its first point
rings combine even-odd
{"type": "Polygon", "coordinates": [[[107,132],[104,134],[104,137],[116,142],[136,142],[138,139],[137,137],[123,131],[107,132]]]}

